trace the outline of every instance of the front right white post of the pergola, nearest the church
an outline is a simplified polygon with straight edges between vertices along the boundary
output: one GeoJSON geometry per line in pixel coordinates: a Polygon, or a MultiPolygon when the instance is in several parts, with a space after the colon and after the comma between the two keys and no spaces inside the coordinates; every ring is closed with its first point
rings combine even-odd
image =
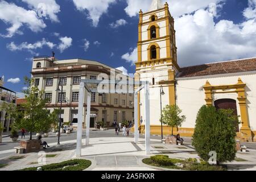
{"type": "Polygon", "coordinates": [[[146,130],[146,155],[150,155],[150,100],[148,82],[145,85],[145,130],[146,130]]]}

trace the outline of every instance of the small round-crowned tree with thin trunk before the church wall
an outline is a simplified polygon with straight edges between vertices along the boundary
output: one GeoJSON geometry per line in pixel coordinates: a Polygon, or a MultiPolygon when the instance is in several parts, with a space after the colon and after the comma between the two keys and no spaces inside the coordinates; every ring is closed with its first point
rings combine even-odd
{"type": "MultiPolygon", "coordinates": [[[[185,122],[185,115],[180,115],[182,110],[177,105],[167,105],[162,111],[162,121],[167,126],[172,127],[172,135],[174,135],[174,127],[181,127],[185,122]]],[[[160,118],[161,119],[161,118],[160,118]]],[[[161,120],[160,120],[161,121],[161,120]]]]}

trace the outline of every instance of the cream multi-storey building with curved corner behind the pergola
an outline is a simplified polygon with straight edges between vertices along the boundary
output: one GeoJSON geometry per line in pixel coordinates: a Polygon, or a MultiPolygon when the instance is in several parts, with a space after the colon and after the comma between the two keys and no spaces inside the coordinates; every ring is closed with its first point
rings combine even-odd
{"type": "MultiPolygon", "coordinates": [[[[99,63],[98,61],[72,59],[54,60],[51,57],[35,57],[32,65],[32,77],[35,85],[46,92],[49,103],[47,108],[51,111],[60,108],[63,101],[61,119],[64,123],[77,125],[79,84],[80,80],[110,79],[110,71],[114,70],[117,79],[127,80],[128,77],[122,72],[99,63]],[[103,77],[103,78],[102,78],[103,77]],[[63,96],[56,91],[59,83],[63,85],[63,96]]],[[[91,85],[96,88],[97,85],[91,85]]],[[[59,87],[61,89],[61,87],[59,87]]],[[[84,99],[83,122],[86,117],[86,93],[84,99]]],[[[134,96],[133,94],[99,94],[92,93],[92,107],[90,114],[90,127],[96,122],[104,121],[107,126],[113,122],[133,121],[134,119],[134,96]]]]}

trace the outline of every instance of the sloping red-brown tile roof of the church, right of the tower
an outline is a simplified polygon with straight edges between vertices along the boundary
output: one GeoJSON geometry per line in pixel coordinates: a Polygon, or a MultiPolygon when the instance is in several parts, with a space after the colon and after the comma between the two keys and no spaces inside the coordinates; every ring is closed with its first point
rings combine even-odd
{"type": "Polygon", "coordinates": [[[256,71],[256,57],[180,68],[179,78],[256,71]]]}

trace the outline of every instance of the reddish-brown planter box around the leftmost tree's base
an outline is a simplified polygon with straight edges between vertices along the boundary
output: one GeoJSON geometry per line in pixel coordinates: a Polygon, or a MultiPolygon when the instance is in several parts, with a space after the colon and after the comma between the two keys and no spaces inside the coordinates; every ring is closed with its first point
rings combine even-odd
{"type": "Polygon", "coordinates": [[[41,140],[20,140],[19,146],[24,148],[24,153],[39,152],[41,140]]]}

